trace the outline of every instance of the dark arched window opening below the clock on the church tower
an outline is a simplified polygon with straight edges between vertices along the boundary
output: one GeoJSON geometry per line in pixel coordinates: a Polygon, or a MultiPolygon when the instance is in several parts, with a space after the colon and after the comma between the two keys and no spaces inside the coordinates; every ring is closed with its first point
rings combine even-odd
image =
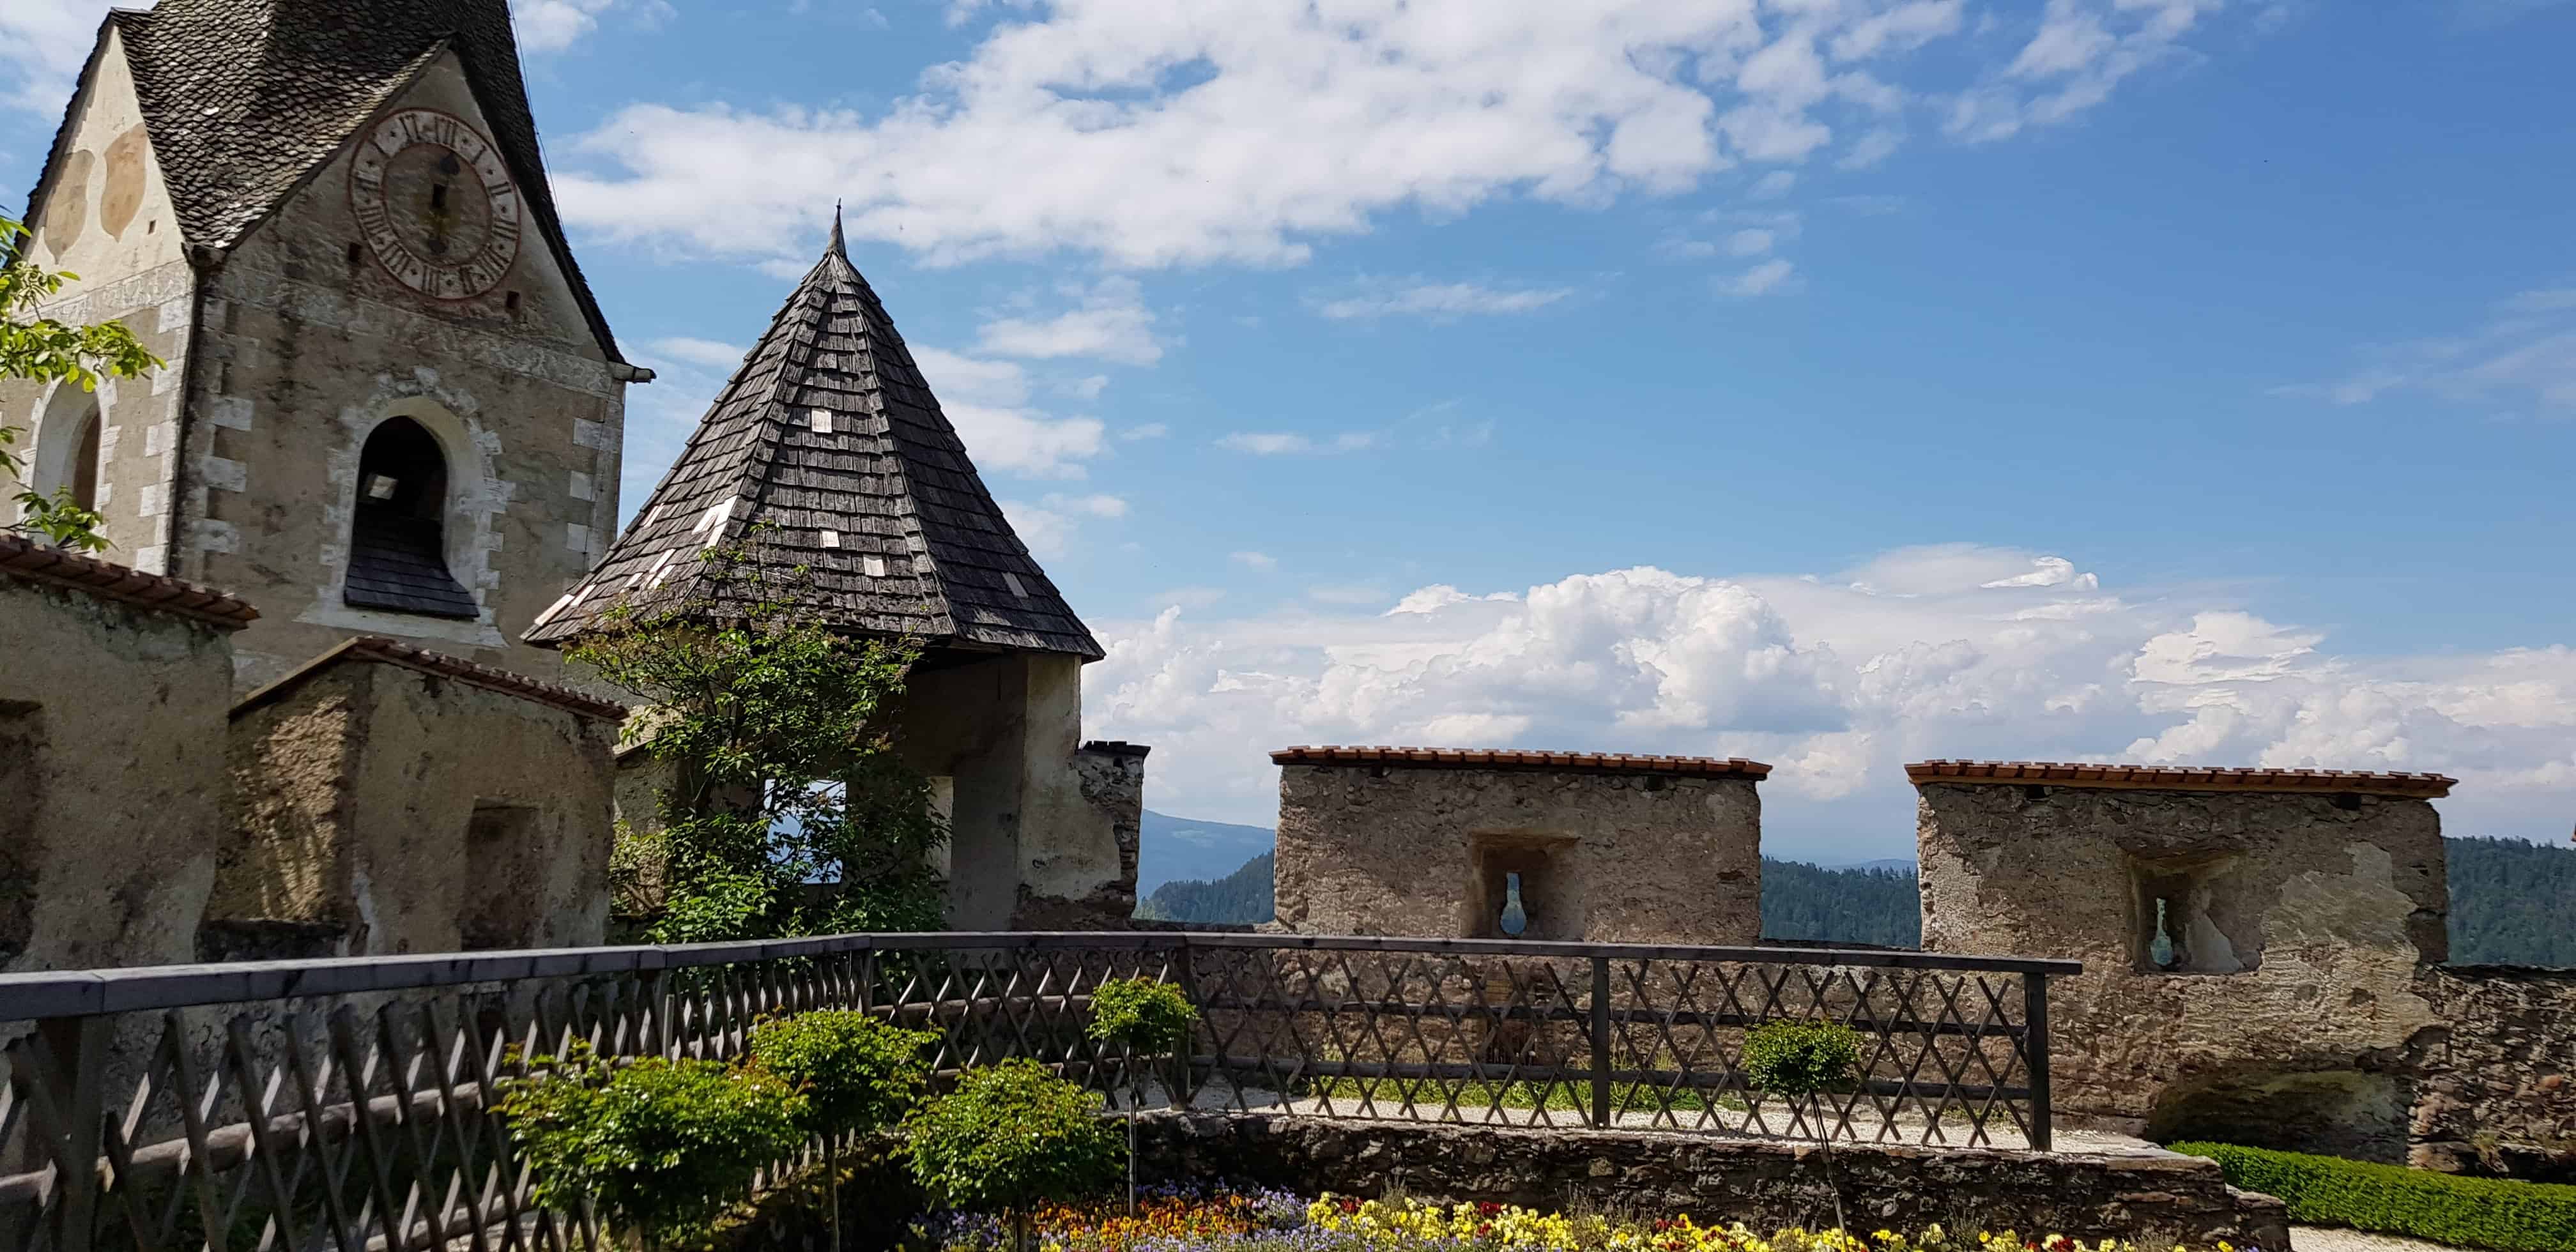
{"type": "Polygon", "coordinates": [[[482,608],[448,572],[448,459],[420,422],[386,417],[358,451],[358,507],[348,536],[355,608],[474,618],[482,608]]]}

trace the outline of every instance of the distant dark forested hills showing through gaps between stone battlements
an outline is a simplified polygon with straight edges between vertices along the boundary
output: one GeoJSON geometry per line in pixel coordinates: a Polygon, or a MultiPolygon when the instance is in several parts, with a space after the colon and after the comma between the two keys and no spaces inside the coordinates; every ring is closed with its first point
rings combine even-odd
{"type": "MultiPolygon", "coordinates": [[[[2522,840],[2445,842],[2455,966],[2576,969],[2576,848],[2522,840]]],[[[1922,943],[1914,871],[1886,866],[1819,868],[1762,858],[1762,938],[1886,948],[1922,943]]],[[[1136,907],[1136,917],[1267,922],[1270,853],[1216,881],[1162,884],[1136,907]]]]}

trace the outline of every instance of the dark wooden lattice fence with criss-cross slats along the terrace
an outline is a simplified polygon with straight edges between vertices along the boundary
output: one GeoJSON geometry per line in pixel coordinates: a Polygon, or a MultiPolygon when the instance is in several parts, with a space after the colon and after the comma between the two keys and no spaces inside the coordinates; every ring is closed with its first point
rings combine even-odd
{"type": "MultiPolygon", "coordinates": [[[[760,1020],[938,1036],[935,1085],[1036,1059],[1118,1108],[2048,1149],[2066,961],[1211,933],[930,933],[0,976],[0,1252],[562,1252],[507,1126],[567,1056],[729,1061],[760,1020]],[[1084,1028],[1180,987],[1188,1048],[1084,1028]],[[1785,1100],[1747,1030],[1824,1018],[1852,1082],[1785,1100]]],[[[775,1162],[765,1180],[811,1162],[775,1162]]]]}

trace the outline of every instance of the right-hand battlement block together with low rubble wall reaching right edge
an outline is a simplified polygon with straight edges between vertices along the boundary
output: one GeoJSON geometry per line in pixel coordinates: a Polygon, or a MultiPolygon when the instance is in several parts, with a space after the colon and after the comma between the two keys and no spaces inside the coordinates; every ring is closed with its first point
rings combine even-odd
{"type": "Polygon", "coordinates": [[[2084,961],[2050,987],[2061,1118],[2576,1177],[2576,971],[2445,966],[2442,791],[2354,786],[2396,793],[1917,768],[1924,948],[2084,961]]]}

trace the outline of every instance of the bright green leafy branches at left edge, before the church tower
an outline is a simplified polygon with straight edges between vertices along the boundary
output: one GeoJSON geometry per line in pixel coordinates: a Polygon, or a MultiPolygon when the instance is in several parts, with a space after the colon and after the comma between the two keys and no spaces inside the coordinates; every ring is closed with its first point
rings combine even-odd
{"type": "MultiPolygon", "coordinates": [[[[0,216],[0,379],[59,379],[98,392],[98,379],[134,379],[162,366],[124,322],[80,327],[36,317],[36,304],[77,273],[36,268],[26,258],[26,240],[23,224],[0,216]]],[[[26,459],[13,451],[15,443],[18,428],[0,425],[0,474],[23,484],[26,459]]],[[[54,495],[21,487],[15,502],[18,518],[5,531],[39,533],[67,551],[108,549],[98,533],[106,518],[80,507],[70,487],[57,487],[54,495]]]]}

